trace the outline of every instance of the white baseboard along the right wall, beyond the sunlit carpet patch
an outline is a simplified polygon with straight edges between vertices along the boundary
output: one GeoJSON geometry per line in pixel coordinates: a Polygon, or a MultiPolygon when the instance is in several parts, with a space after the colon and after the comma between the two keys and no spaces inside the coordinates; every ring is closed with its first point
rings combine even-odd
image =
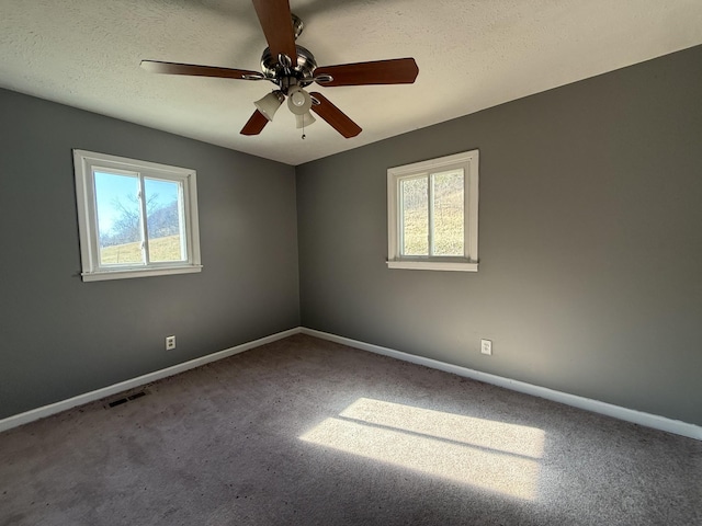
{"type": "Polygon", "coordinates": [[[320,338],[322,340],[341,343],[343,345],[349,345],[350,347],[360,348],[362,351],[382,354],[384,356],[401,359],[404,362],[411,362],[412,364],[423,365],[426,367],[443,370],[445,373],[453,373],[454,375],[463,376],[465,378],[472,378],[485,384],[491,384],[494,386],[503,387],[513,391],[523,392],[525,395],[532,395],[534,397],[545,398],[546,400],[564,403],[574,408],[605,414],[608,416],[624,420],[626,422],[632,422],[634,424],[644,425],[646,427],[653,427],[655,430],[666,431],[668,433],[675,433],[676,435],[682,435],[689,438],[702,441],[702,426],[689,424],[679,420],[671,420],[656,414],[644,413],[642,411],[635,411],[633,409],[626,409],[619,405],[613,405],[611,403],[604,403],[598,400],[578,397],[576,395],[569,395],[567,392],[555,391],[545,387],[539,387],[532,384],[512,380],[510,378],[503,378],[501,376],[480,373],[479,370],[468,369],[458,365],[446,364],[444,362],[426,358],[423,356],[403,353],[401,351],[395,351],[393,348],[381,347],[371,343],[359,342],[356,340],[338,336],[336,334],[330,334],[327,332],[316,331],[314,329],[302,328],[301,332],[303,334],[308,334],[310,336],[320,338]]]}

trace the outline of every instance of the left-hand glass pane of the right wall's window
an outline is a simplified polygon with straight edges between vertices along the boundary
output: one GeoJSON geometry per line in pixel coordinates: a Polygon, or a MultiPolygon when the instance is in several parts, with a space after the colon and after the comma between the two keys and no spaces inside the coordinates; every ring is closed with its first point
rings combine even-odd
{"type": "Polygon", "coordinates": [[[400,181],[401,253],[429,255],[429,198],[427,178],[400,181]]]}

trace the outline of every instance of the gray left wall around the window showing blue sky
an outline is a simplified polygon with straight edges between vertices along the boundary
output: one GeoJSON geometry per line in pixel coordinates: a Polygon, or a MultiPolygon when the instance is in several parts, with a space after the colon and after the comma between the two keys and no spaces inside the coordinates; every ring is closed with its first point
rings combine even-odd
{"type": "Polygon", "coordinates": [[[0,115],[0,419],[299,325],[294,168],[2,90],[0,115]],[[71,148],[197,170],[203,272],[81,282],[71,148]]]}

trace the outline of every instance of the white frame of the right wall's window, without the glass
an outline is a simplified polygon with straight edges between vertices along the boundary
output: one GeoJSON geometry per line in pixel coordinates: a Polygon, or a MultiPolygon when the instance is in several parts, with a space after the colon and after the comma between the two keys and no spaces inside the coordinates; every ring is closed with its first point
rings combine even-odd
{"type": "MultiPolygon", "coordinates": [[[[478,270],[478,150],[395,167],[387,170],[387,266],[423,271],[478,270]],[[401,254],[401,196],[403,180],[429,178],[437,172],[463,169],[464,184],[464,255],[463,256],[406,256],[401,254]]],[[[429,219],[431,224],[431,219],[429,219]]],[[[431,225],[430,225],[431,228],[431,225]]]]}

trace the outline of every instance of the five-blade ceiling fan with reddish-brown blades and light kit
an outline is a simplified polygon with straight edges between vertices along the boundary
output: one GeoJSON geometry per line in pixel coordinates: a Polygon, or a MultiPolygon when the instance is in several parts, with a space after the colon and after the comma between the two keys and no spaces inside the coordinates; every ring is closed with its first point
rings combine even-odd
{"type": "MultiPolygon", "coordinates": [[[[287,107],[295,114],[297,128],[315,122],[310,110],[343,137],[355,137],[361,127],[318,92],[306,87],[411,84],[419,69],[414,58],[395,58],[370,62],[317,67],[314,55],[295,44],[304,24],[291,13],[288,0],[252,0],[268,46],[261,56],[261,71],[197,66],[192,64],[141,60],[141,67],[155,73],[217,77],[238,80],[268,80],[276,89],[256,101],[257,110],[241,128],[242,135],[258,135],[273,121],[273,115],[287,98],[287,107]]],[[[304,138],[304,135],[303,135],[304,138]]]]}

